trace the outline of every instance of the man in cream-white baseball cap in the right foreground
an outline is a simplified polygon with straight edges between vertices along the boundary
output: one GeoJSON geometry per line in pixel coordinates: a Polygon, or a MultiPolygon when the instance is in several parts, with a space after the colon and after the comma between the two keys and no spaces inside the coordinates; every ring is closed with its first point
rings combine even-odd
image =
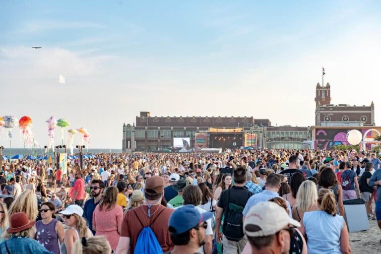
{"type": "Polygon", "coordinates": [[[244,232],[252,253],[288,254],[292,228],[300,223],[274,202],[261,202],[250,208],[244,221],[244,232]]]}

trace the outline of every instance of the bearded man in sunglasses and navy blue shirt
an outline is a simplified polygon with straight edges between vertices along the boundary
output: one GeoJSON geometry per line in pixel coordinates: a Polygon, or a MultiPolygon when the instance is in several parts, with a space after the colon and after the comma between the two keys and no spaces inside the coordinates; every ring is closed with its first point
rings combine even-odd
{"type": "Polygon", "coordinates": [[[102,200],[102,193],[104,189],[105,189],[105,184],[103,183],[102,180],[93,180],[90,186],[90,191],[91,191],[90,193],[92,198],[87,199],[83,207],[82,217],[88,221],[89,229],[94,235],[95,235],[95,231],[93,230],[93,213],[94,213],[95,207],[102,200]]]}

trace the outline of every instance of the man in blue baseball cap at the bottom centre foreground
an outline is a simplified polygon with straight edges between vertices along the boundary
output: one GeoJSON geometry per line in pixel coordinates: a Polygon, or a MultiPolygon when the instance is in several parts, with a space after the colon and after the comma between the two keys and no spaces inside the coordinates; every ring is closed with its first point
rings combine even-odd
{"type": "Polygon", "coordinates": [[[211,212],[201,214],[191,204],[175,210],[168,222],[168,230],[175,247],[168,254],[198,253],[198,248],[205,244],[206,221],[211,217],[211,212]]]}

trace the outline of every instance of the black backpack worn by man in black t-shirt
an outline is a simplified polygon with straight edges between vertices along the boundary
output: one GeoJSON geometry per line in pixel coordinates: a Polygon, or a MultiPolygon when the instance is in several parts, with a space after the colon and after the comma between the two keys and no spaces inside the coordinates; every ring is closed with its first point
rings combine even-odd
{"type": "MultiPolygon", "coordinates": [[[[250,198],[250,191],[248,191],[248,198],[250,198]]],[[[246,201],[247,201],[246,200],[246,201]]],[[[230,189],[228,190],[228,206],[225,211],[224,224],[222,226],[222,233],[230,240],[238,242],[244,236],[244,226],[242,214],[244,207],[230,203],[230,189]]]]}

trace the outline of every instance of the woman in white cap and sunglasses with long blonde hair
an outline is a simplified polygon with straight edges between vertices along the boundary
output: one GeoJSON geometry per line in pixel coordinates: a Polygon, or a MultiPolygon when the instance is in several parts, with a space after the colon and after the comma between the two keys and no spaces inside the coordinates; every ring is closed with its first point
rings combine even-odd
{"type": "Polygon", "coordinates": [[[63,214],[64,223],[69,227],[64,234],[64,243],[61,245],[61,254],[73,254],[74,243],[82,237],[89,237],[93,234],[86,226],[86,221],[82,217],[83,209],[76,204],[66,207],[60,212],[63,214]]]}

